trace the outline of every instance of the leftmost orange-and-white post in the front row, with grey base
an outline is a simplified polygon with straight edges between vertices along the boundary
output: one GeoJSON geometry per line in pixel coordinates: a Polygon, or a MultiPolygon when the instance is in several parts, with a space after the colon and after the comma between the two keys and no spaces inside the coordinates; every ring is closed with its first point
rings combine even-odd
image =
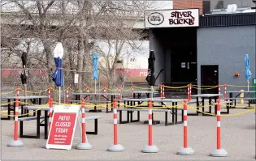
{"type": "MultiPolygon", "coordinates": [[[[18,87],[19,89],[19,87],[18,87]]],[[[18,92],[17,92],[18,95],[18,92]]],[[[24,143],[18,140],[18,126],[19,126],[19,121],[18,121],[18,116],[19,116],[19,99],[16,97],[15,100],[15,129],[14,129],[14,137],[13,140],[7,143],[7,146],[11,147],[20,147],[24,146],[24,143]]]]}

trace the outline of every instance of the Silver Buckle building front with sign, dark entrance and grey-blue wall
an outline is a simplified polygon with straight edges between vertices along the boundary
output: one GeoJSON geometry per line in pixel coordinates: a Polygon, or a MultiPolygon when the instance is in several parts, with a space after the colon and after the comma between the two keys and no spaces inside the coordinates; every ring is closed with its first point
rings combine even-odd
{"type": "Polygon", "coordinates": [[[145,11],[156,83],[246,85],[244,57],[255,77],[256,13],[200,15],[199,9],[145,11]],[[239,75],[238,75],[239,74],[239,75]]]}

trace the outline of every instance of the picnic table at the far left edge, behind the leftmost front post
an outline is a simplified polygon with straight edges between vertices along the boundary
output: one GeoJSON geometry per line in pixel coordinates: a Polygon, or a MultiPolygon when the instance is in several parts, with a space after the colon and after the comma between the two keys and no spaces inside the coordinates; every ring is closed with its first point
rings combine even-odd
{"type": "MultiPolygon", "coordinates": [[[[1,117],[1,120],[10,120],[11,117],[11,111],[13,111],[15,113],[15,102],[13,103],[13,108],[11,108],[11,100],[15,101],[16,98],[20,100],[30,100],[32,102],[32,104],[41,104],[41,99],[44,99],[44,98],[48,98],[48,96],[46,95],[20,95],[20,96],[2,96],[2,99],[6,99],[7,100],[7,103],[8,103],[8,116],[7,118],[2,118],[1,117]],[[37,101],[38,100],[38,101],[37,101]]],[[[21,104],[21,114],[24,114],[24,113],[28,113],[29,111],[27,109],[24,109],[24,105],[26,104],[21,104]]],[[[35,116],[36,113],[34,112],[33,113],[33,116],[35,116]]],[[[25,116],[22,116],[22,117],[29,117],[28,115],[25,115],[25,116]]],[[[15,117],[13,117],[13,119],[15,119],[15,117]]]]}

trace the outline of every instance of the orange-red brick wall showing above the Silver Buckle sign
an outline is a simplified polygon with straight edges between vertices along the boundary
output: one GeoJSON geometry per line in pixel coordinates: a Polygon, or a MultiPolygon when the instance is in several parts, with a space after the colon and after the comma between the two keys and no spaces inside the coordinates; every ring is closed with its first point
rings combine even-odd
{"type": "Polygon", "coordinates": [[[173,9],[199,8],[202,15],[202,0],[173,0],[173,9]]]}

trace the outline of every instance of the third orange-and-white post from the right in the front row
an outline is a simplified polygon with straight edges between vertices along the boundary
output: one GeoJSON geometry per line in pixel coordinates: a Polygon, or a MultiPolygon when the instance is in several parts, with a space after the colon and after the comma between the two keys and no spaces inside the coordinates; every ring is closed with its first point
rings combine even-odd
{"type": "Polygon", "coordinates": [[[153,146],[152,143],[152,100],[149,100],[149,142],[144,146],[141,152],[143,153],[157,153],[158,147],[153,146]]]}

